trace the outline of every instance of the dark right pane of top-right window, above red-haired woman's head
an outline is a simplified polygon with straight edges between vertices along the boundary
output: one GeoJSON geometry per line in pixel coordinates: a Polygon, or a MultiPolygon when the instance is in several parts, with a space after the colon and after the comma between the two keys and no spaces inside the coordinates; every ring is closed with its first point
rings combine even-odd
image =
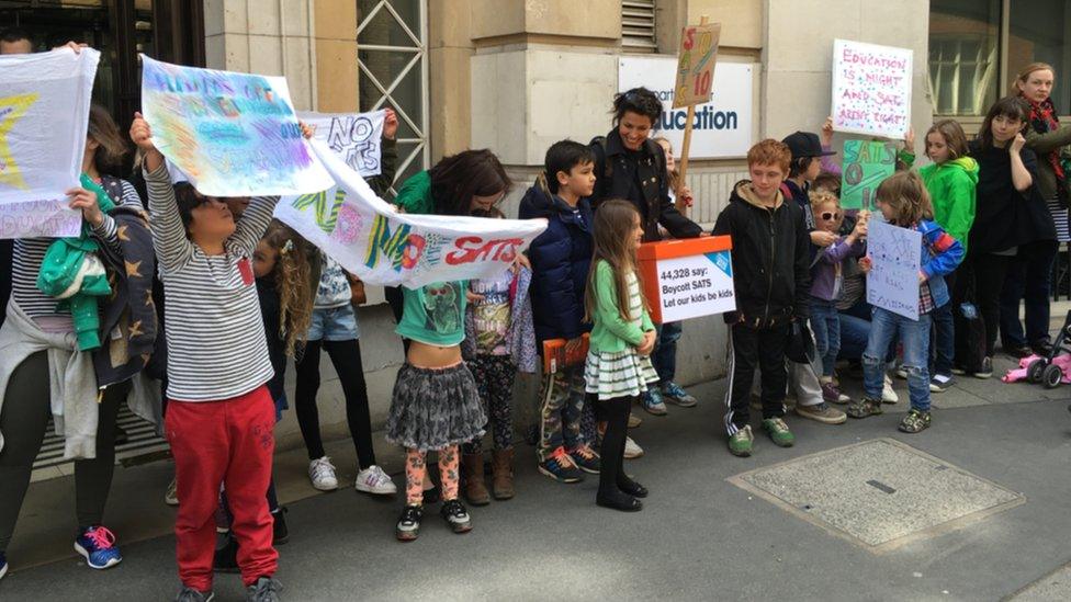
{"type": "Polygon", "coordinates": [[[1052,103],[1071,115],[1071,1],[1014,0],[1008,16],[1006,79],[1030,63],[1048,63],[1056,69],[1052,103]]]}

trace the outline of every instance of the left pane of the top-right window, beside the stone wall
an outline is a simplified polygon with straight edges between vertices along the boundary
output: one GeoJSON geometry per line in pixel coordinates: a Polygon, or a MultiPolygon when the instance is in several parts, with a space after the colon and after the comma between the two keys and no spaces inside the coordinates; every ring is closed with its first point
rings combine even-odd
{"type": "Polygon", "coordinates": [[[929,84],[938,115],[982,115],[997,98],[1000,0],[932,0],[929,84]]]}

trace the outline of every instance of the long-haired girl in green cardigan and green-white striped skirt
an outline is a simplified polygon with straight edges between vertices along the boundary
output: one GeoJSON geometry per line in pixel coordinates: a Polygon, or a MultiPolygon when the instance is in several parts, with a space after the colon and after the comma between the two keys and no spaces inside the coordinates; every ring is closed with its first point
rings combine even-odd
{"type": "Polygon", "coordinates": [[[651,364],[655,330],[636,274],[643,238],[640,214],[628,201],[607,201],[595,214],[595,253],[584,295],[585,321],[591,321],[584,368],[586,390],[598,399],[606,422],[599,492],[595,502],[635,512],[647,490],[621,468],[629,408],[647,385],[658,382],[651,364]]]}

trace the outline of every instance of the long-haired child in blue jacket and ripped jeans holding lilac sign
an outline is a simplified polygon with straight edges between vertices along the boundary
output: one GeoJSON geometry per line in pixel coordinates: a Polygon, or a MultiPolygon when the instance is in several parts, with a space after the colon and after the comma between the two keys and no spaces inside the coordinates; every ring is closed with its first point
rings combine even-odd
{"type": "MultiPolygon", "coordinates": [[[[922,234],[922,264],[918,266],[918,319],[894,314],[884,307],[873,308],[870,339],[863,354],[866,397],[848,406],[848,416],[866,418],[881,413],[881,387],[884,376],[884,355],[892,338],[900,336],[903,364],[907,372],[911,410],[900,422],[900,430],[917,433],[929,428],[929,327],[935,308],[948,303],[944,276],[956,269],[963,258],[963,246],[933,222],[934,211],[929,193],[918,174],[903,171],[886,179],[877,191],[878,211],[886,220],[901,228],[922,234]]],[[[859,261],[869,272],[871,258],[859,261]]],[[[906,283],[904,283],[906,285],[906,283]]]]}

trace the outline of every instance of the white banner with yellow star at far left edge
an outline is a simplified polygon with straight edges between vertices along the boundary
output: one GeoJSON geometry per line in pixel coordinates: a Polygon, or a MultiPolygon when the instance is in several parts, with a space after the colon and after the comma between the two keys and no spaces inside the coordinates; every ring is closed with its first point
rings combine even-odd
{"type": "Polygon", "coordinates": [[[74,236],[89,103],[100,53],[0,56],[0,238],[74,236]]]}

